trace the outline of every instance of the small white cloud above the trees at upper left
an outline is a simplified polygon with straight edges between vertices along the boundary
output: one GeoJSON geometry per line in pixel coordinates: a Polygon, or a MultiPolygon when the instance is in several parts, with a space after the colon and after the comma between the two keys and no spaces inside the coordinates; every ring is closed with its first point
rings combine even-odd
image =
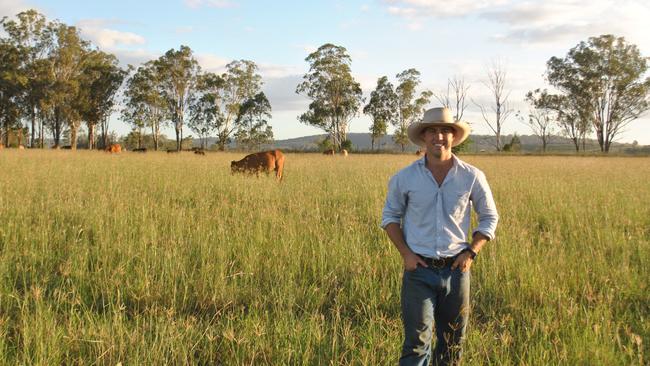
{"type": "Polygon", "coordinates": [[[115,49],[117,46],[141,45],[145,43],[144,37],[131,33],[107,28],[109,24],[117,21],[103,19],[86,19],[77,23],[81,35],[90,39],[95,45],[104,49],[115,49]]]}

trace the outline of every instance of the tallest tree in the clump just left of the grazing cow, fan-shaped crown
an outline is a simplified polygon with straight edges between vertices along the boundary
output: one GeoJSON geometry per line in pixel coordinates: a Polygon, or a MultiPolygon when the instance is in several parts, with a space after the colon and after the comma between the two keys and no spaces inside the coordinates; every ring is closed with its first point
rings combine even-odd
{"type": "Polygon", "coordinates": [[[176,132],[176,149],[181,150],[183,125],[189,102],[195,93],[199,63],[187,46],[170,49],[154,62],[160,88],[176,132]]]}

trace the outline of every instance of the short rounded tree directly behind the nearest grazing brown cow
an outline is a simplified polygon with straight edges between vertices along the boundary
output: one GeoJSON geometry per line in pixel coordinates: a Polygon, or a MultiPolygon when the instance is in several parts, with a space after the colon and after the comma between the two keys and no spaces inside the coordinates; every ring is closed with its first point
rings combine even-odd
{"type": "Polygon", "coordinates": [[[260,145],[273,141],[273,129],[269,125],[271,103],[264,92],[255,94],[241,106],[237,116],[235,132],[237,144],[249,150],[257,150],[260,145]]]}

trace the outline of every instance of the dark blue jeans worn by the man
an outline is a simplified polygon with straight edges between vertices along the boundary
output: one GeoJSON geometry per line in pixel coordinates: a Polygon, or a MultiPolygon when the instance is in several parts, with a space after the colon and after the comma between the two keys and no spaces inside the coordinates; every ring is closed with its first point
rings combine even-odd
{"type": "Polygon", "coordinates": [[[469,315],[470,272],[450,266],[420,267],[402,278],[404,345],[399,364],[428,366],[460,362],[469,315]],[[431,354],[435,320],[436,348],[431,354]]]}

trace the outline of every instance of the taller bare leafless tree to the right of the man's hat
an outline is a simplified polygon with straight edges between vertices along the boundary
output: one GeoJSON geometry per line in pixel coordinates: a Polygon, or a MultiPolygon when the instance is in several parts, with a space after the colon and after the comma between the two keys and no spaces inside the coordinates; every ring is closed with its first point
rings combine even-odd
{"type": "Polygon", "coordinates": [[[483,120],[494,132],[497,151],[501,151],[501,129],[514,110],[510,108],[508,102],[510,91],[506,90],[507,72],[505,67],[498,62],[494,62],[488,67],[487,75],[488,81],[484,85],[490,90],[494,98],[494,104],[490,105],[490,107],[485,107],[476,102],[474,104],[481,110],[483,120]],[[490,117],[491,114],[494,114],[494,118],[490,117]]]}

